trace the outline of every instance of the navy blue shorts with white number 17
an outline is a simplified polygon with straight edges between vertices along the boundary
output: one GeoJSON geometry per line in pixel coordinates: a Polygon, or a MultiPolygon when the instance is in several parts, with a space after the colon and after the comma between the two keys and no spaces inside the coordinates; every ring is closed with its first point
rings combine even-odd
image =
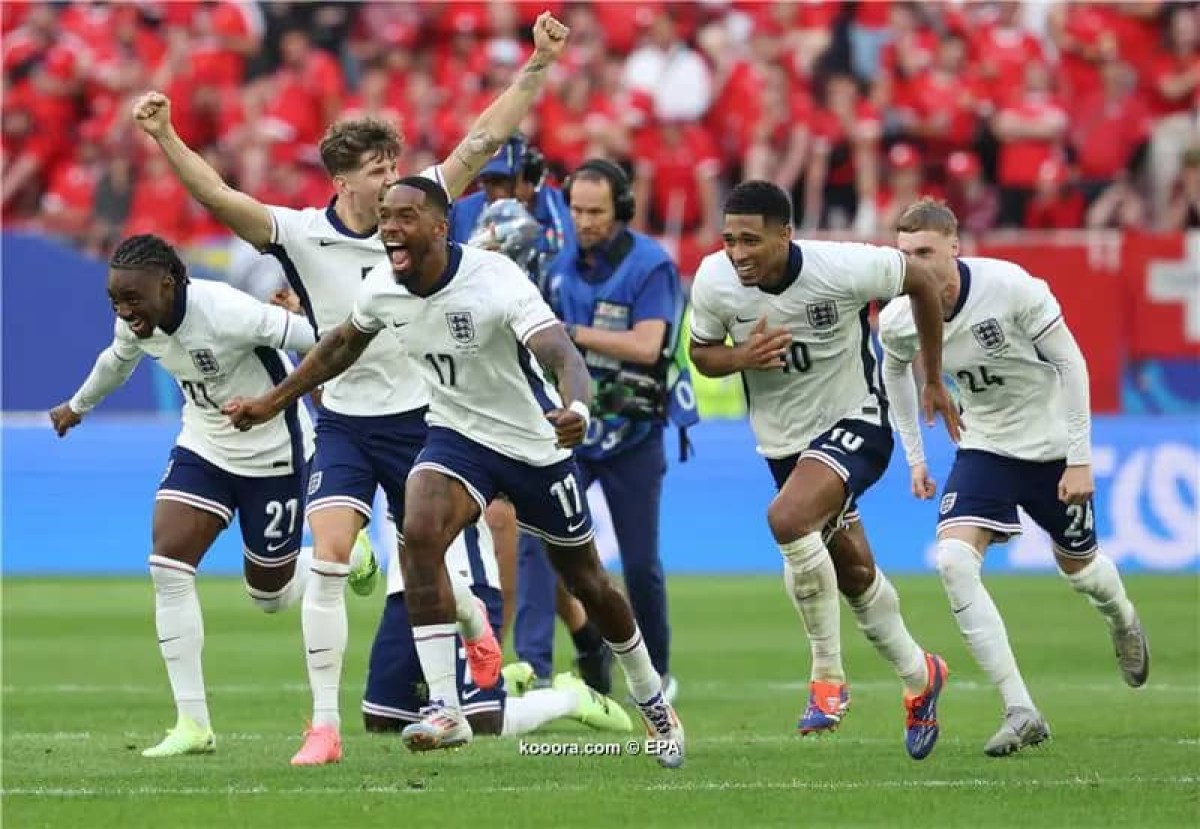
{"type": "Polygon", "coordinates": [[[592,512],[574,458],[534,467],[433,426],[414,470],[422,467],[461,481],[480,511],[504,493],[521,529],[544,541],[577,547],[592,540],[592,512]]]}

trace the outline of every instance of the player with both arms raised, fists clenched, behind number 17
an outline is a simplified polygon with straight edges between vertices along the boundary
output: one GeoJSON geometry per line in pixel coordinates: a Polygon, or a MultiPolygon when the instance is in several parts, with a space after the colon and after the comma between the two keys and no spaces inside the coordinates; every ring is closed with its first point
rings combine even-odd
{"type": "MultiPolygon", "coordinates": [[[[548,12],[542,13],[533,28],[534,53],[512,85],[479,116],[450,157],[427,170],[451,194],[466,190],[529,112],[568,32],[548,12]]],[[[172,128],[166,96],[143,96],[134,115],[200,204],[283,263],[319,336],[349,317],[364,276],[383,259],[376,209],[380,187],[395,175],[401,150],[394,127],[372,119],[331,126],[320,150],[337,194],[328,208],[296,211],[268,208],[227,186],[172,128]]],[[[354,576],[349,554],[355,535],[371,518],[377,485],[401,521],[404,479],[425,443],[428,391],[395,341],[379,337],[361,361],[324,389],[322,402],[306,510],[320,567],[301,614],[313,714],[304,745],[292,758],[295,765],[341,759],[338,689],[348,636],[344,583],[354,576]]],[[[372,575],[361,576],[370,579],[372,575]]],[[[480,684],[493,685],[503,657],[499,643],[467,585],[455,579],[454,587],[473,674],[480,684]]]]}

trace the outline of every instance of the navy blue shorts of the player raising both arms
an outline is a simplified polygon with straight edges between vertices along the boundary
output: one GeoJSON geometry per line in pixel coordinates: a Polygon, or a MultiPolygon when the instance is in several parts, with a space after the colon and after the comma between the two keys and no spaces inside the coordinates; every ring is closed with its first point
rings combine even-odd
{"type": "Polygon", "coordinates": [[[402,522],[404,481],[428,433],[425,412],[368,417],[322,409],[305,515],[329,506],[349,506],[371,521],[371,505],[379,486],[388,495],[392,518],[402,522]]]}

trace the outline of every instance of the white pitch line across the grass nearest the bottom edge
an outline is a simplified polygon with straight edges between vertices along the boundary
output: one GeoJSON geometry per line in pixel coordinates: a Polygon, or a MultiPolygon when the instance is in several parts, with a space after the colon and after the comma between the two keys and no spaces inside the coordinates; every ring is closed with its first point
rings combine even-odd
{"type": "MultiPolygon", "coordinates": [[[[961,779],[961,780],[760,780],[760,781],[691,781],[680,780],[677,782],[662,783],[637,783],[626,782],[622,785],[625,791],[632,792],[761,792],[761,791],[808,791],[808,792],[850,792],[870,789],[937,789],[937,788],[961,788],[961,789],[994,789],[994,788],[1069,788],[1074,786],[1194,786],[1200,783],[1200,777],[1176,776],[1176,777],[1062,777],[1058,780],[996,780],[996,779],[961,779]]],[[[592,783],[548,783],[528,786],[487,786],[484,788],[467,788],[461,786],[448,786],[446,788],[419,788],[412,786],[354,786],[354,787],[281,787],[269,786],[229,786],[229,787],[169,787],[169,786],[139,786],[134,788],[6,788],[0,789],[0,797],[31,797],[31,798],[126,798],[126,797],[212,797],[212,795],[337,795],[337,794],[449,794],[462,797],[463,794],[511,794],[529,792],[594,792],[592,783]]]]}

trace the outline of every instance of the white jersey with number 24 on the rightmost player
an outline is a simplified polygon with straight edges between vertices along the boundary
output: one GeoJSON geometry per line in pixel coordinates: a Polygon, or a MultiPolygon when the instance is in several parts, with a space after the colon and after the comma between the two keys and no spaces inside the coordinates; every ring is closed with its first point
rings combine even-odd
{"type": "MultiPolygon", "coordinates": [[[[942,370],[959,389],[962,449],[1024,461],[1067,455],[1067,417],[1058,372],[1038,356],[1037,342],[1062,310],[1050,287],[1002,259],[959,259],[959,301],[943,331],[942,370]]],[[[883,348],[901,362],[917,354],[907,296],[880,316],[883,348]]]]}

